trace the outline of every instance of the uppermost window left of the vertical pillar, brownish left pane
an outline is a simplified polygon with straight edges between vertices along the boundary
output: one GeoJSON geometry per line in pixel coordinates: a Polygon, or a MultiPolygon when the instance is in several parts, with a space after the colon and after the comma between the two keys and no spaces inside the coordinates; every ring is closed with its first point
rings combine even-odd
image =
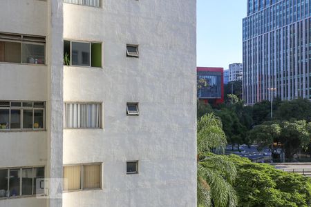
{"type": "Polygon", "coordinates": [[[46,37],[0,32],[0,62],[45,63],[46,37]]]}

